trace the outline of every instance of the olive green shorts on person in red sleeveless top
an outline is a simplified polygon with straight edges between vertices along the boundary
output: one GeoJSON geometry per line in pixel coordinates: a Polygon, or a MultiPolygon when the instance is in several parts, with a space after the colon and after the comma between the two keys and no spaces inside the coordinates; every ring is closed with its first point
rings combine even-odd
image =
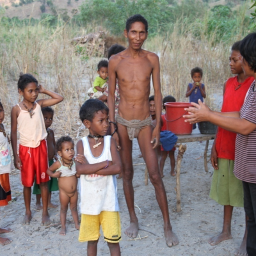
{"type": "Polygon", "coordinates": [[[244,207],[242,180],[234,175],[234,161],[218,158],[219,170],[214,170],[210,197],[221,205],[244,207]]]}

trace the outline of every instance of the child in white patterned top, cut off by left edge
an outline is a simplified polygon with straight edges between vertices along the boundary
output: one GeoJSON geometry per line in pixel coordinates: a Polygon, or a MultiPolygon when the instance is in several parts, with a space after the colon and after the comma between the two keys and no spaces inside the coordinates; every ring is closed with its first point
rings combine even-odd
{"type": "MultiPolygon", "coordinates": [[[[0,207],[8,205],[12,200],[9,173],[12,170],[11,152],[8,136],[2,124],[4,120],[4,108],[0,101],[0,207]]],[[[0,234],[12,232],[10,228],[0,228],[0,234]]],[[[12,241],[8,238],[0,237],[0,244],[10,244],[12,241]]]]}

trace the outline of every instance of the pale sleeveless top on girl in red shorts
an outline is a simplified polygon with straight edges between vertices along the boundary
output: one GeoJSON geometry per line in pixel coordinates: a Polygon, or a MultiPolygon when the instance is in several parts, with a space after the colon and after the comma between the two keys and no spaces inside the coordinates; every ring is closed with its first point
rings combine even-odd
{"type": "MultiPolygon", "coordinates": [[[[17,104],[20,108],[20,105],[17,104]]],[[[47,131],[44,124],[44,116],[40,105],[36,102],[36,107],[33,109],[34,115],[32,118],[29,112],[20,108],[20,114],[17,118],[18,131],[20,133],[20,145],[36,148],[42,140],[46,140],[47,131]]]]}

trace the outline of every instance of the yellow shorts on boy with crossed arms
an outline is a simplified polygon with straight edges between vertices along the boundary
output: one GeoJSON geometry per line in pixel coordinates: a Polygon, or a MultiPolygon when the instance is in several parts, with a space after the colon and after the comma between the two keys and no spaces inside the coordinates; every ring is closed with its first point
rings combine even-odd
{"type": "Polygon", "coordinates": [[[100,225],[105,241],[119,243],[121,240],[119,212],[109,211],[102,211],[99,215],[82,214],[78,241],[97,241],[100,237],[100,225]]]}

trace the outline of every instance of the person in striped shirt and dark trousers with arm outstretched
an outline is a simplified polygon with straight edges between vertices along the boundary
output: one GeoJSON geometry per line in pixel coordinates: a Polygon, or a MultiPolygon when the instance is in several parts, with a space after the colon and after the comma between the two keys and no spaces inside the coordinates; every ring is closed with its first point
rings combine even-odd
{"type": "MultiPolygon", "coordinates": [[[[247,35],[239,46],[239,60],[245,76],[256,79],[256,33],[247,35]]],[[[248,216],[248,235],[246,252],[249,256],[256,255],[256,85],[253,81],[240,111],[216,112],[209,109],[200,100],[192,103],[195,108],[186,108],[185,122],[209,121],[219,127],[236,132],[236,151],[234,175],[243,182],[244,211],[248,216]]]]}

